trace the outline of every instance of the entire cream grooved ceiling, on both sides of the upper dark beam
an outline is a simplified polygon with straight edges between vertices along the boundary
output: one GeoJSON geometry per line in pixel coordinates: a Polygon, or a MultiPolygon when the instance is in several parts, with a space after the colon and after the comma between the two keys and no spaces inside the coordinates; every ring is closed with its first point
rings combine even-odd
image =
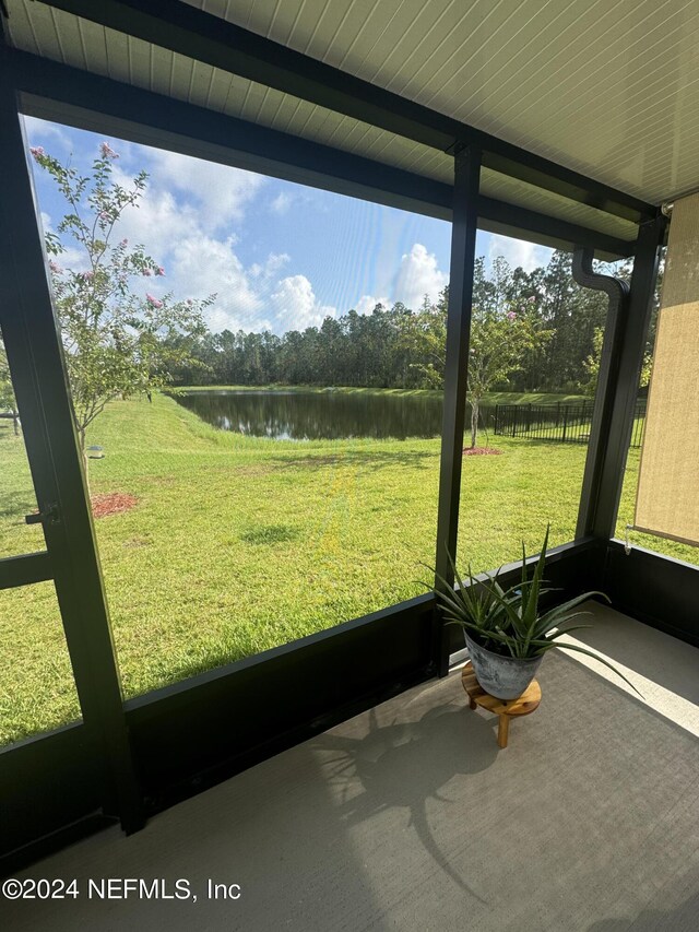
{"type": "MultiPolygon", "coordinates": [[[[185,0],[653,203],[699,187],[699,0],[185,0]]],[[[55,10],[19,48],[451,182],[441,152],[55,10]]],[[[484,170],[484,194],[635,226],[484,170]]]]}

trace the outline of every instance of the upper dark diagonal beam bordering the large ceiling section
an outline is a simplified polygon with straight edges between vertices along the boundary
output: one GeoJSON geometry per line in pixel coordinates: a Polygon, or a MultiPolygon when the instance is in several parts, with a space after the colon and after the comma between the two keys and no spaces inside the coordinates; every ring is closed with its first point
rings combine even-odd
{"type": "Polygon", "coordinates": [[[264,36],[171,0],[43,0],[228,73],[310,101],[424,145],[473,145],[496,172],[633,222],[653,216],[639,198],[347,74],[264,36]]]}

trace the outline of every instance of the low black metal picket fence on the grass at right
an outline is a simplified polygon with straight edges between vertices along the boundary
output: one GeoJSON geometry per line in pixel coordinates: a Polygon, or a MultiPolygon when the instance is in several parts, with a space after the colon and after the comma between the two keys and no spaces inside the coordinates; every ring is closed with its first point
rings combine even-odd
{"type": "MultiPolygon", "coordinates": [[[[592,401],[574,404],[496,404],[495,434],[559,444],[587,444],[592,428],[592,401]]],[[[645,424],[645,399],[636,401],[631,447],[640,447],[645,424]]]]}

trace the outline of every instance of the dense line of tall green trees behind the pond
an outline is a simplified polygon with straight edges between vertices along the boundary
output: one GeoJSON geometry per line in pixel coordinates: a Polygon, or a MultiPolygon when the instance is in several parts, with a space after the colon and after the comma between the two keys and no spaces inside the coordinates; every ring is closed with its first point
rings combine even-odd
{"type": "MultiPolygon", "coordinates": [[[[617,272],[618,274],[618,272],[617,272]]],[[[441,388],[449,286],[417,309],[396,302],[369,314],[350,310],[320,327],[205,333],[190,362],[176,367],[176,385],[309,385],[441,388]]],[[[571,257],[554,252],[544,268],[525,272],[496,259],[488,273],[476,260],[472,349],[487,367],[512,343],[512,327],[526,321],[513,352],[500,353],[488,389],[580,392],[594,380],[607,299],[573,281],[571,257]],[[485,329],[493,333],[487,339],[485,329]],[[505,326],[503,326],[505,325],[505,326]],[[485,339],[485,345],[481,345],[485,339]]],[[[523,328],[521,328],[521,331],[523,328]]],[[[472,366],[474,368],[474,366],[472,366]]]]}

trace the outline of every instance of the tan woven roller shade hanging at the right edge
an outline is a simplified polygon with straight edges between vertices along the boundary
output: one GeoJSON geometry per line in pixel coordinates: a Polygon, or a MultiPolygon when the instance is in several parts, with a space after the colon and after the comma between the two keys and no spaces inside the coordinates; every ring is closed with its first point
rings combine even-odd
{"type": "Polygon", "coordinates": [[[699,544],[699,193],[673,208],[635,526],[699,544]]]}

